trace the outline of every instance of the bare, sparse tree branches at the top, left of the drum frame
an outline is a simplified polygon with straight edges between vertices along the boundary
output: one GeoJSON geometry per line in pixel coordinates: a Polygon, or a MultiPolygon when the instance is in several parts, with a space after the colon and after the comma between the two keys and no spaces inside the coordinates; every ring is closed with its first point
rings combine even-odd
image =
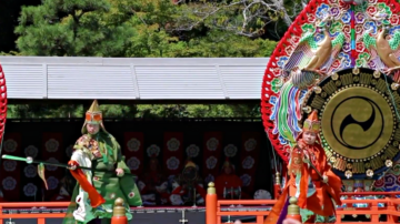
{"type": "Polygon", "coordinates": [[[267,24],[278,20],[282,20],[289,27],[307,0],[296,0],[290,7],[286,6],[283,0],[233,0],[230,3],[188,4],[179,0],[176,3],[183,8],[182,14],[177,18],[176,24],[169,31],[190,31],[206,24],[240,35],[258,37],[267,24]]]}

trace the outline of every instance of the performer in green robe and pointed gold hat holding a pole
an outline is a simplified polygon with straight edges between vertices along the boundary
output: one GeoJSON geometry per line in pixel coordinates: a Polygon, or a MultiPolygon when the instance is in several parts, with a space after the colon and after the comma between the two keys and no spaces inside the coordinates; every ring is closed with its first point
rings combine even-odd
{"type": "Polygon", "coordinates": [[[110,223],[114,200],[126,202],[127,217],[132,218],[129,205],[142,204],[133,175],[124,163],[121,147],[106,131],[102,113],[94,100],[86,113],[82,136],[74,144],[70,171],[77,180],[64,224],[110,223]],[[87,166],[92,170],[81,170],[87,166]]]}

